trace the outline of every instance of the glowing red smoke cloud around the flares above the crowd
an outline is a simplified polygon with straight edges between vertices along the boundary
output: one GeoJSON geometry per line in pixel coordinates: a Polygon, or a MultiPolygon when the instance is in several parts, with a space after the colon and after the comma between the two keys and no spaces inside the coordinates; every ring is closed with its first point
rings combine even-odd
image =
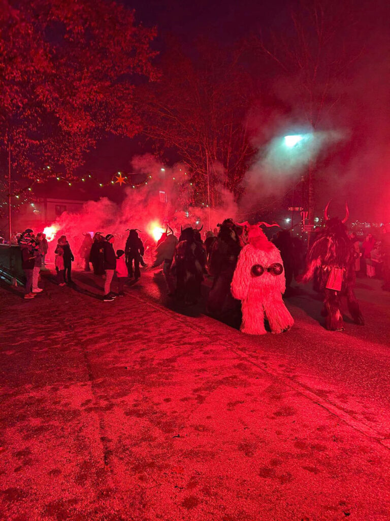
{"type": "MultiPolygon", "coordinates": [[[[214,229],[218,222],[227,217],[236,217],[237,204],[233,195],[219,187],[222,205],[209,208],[188,206],[189,183],[184,165],[176,164],[173,168],[162,165],[151,154],[136,156],[132,160],[133,171],[137,175],[127,176],[126,183],[120,188],[124,199],[120,204],[101,197],[98,201],[88,201],[81,212],[64,212],[51,224],[60,234],[67,235],[71,246],[77,251],[83,240],[83,233],[103,232],[115,235],[115,247],[123,247],[127,238],[127,228],[138,228],[142,240],[155,244],[155,231],[160,233],[168,224],[175,234],[180,234],[180,227],[193,226],[203,231],[214,229]],[[139,185],[132,182],[139,182],[139,185]],[[134,188],[133,188],[134,187],[134,188]]],[[[118,187],[119,188],[119,187],[118,187]]],[[[56,241],[55,241],[56,242],[56,241]]]]}

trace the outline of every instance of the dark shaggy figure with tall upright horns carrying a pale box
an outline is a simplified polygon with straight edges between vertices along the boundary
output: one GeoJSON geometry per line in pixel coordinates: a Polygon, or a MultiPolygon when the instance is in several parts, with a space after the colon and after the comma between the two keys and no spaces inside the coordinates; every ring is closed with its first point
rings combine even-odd
{"type": "Polygon", "coordinates": [[[349,313],[354,322],[363,325],[364,320],[354,293],[355,249],[344,226],[349,215],[348,205],[345,206],[346,214],[343,220],[337,217],[330,219],[329,203],[324,213],[325,226],[318,233],[307,254],[307,267],[302,281],[307,282],[317,274],[319,290],[325,293],[326,328],[330,331],[342,331],[342,295],[347,297],[349,313]]]}

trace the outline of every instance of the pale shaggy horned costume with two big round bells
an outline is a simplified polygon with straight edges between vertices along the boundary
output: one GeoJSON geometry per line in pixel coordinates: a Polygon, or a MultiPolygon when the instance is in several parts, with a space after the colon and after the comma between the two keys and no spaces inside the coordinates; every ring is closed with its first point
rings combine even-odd
{"type": "MultiPolygon", "coordinates": [[[[241,331],[249,334],[265,334],[264,318],[269,322],[272,333],[281,333],[294,324],[282,300],[285,291],[283,262],[279,250],[268,241],[258,222],[248,227],[248,244],[238,257],[237,267],[231,282],[231,293],[242,301],[241,331]]],[[[278,226],[278,225],[276,225],[278,226]]]]}

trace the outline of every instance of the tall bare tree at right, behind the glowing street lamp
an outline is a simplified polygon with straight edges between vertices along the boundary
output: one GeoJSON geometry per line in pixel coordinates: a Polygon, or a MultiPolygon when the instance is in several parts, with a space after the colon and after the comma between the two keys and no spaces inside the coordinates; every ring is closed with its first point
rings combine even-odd
{"type": "MultiPolygon", "coordinates": [[[[255,36],[255,48],[277,65],[283,81],[289,85],[295,112],[303,114],[313,132],[321,128],[324,116],[329,116],[340,102],[347,70],[358,56],[346,26],[352,25],[347,3],[332,0],[303,0],[291,13],[292,27],[285,32],[255,36]]],[[[314,224],[315,163],[307,172],[308,221],[314,224]]]]}

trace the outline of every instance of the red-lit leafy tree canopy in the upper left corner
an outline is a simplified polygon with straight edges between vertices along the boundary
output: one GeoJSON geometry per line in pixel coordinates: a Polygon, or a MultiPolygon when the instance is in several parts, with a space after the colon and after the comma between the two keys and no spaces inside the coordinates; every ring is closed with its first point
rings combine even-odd
{"type": "Polygon", "coordinates": [[[135,83],[153,80],[154,29],[104,0],[3,0],[0,11],[0,150],[37,179],[52,165],[72,177],[108,133],[141,126],[135,83]]]}

